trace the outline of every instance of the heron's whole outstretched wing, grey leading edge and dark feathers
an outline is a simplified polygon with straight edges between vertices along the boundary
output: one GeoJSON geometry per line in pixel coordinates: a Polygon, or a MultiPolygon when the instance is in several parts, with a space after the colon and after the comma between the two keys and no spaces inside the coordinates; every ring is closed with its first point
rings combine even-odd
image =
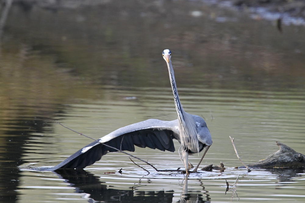
{"type": "Polygon", "coordinates": [[[83,169],[101,159],[106,153],[117,151],[108,146],[131,152],[135,151],[135,146],[174,152],[173,138],[178,138],[178,120],[149,119],[113,131],[84,146],[66,160],[48,170],[54,171],[60,168],[83,169]]]}

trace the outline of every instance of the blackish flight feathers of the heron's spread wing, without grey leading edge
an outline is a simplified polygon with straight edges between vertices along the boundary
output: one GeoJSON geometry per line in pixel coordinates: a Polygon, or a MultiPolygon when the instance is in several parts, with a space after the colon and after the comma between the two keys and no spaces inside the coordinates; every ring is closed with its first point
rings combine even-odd
{"type": "Polygon", "coordinates": [[[173,138],[173,131],[171,130],[141,129],[132,131],[112,138],[108,142],[105,142],[105,145],[98,141],[94,141],[89,145],[84,146],[58,165],[46,169],[50,171],[58,169],[83,169],[101,159],[101,157],[108,152],[116,152],[118,151],[117,149],[134,152],[135,145],[142,148],[149,147],[151,149],[174,152],[175,147],[173,138]]]}

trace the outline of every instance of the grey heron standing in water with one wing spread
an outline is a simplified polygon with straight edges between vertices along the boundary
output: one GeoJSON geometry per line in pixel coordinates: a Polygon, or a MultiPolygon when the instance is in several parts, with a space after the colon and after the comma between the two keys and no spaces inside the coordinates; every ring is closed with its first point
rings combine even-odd
{"type": "MultiPolygon", "coordinates": [[[[167,63],[178,119],[174,121],[149,119],[119,128],[84,146],[57,166],[49,168],[49,170],[54,171],[60,168],[83,169],[101,159],[108,152],[115,152],[117,151],[116,149],[134,152],[135,146],[174,152],[173,139],[177,139],[181,143],[186,173],[189,173],[188,154],[199,153],[204,147],[206,147],[207,151],[212,144],[212,138],[203,118],[188,114],[183,110],[177,92],[174,69],[170,60],[170,50],[164,50],[162,56],[167,63]]],[[[198,166],[195,170],[197,170],[198,166]]]]}

